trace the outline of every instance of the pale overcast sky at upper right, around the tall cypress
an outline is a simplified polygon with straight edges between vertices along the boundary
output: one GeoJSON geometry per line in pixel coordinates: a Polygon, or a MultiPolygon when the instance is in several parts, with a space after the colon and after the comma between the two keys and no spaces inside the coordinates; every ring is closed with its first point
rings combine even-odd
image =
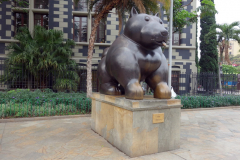
{"type": "MultiPolygon", "coordinates": [[[[240,21],[240,0],[214,0],[214,4],[218,14],[215,15],[216,23],[232,23],[235,21],[240,21]]],[[[200,5],[199,0],[197,0],[197,7],[200,5]]],[[[200,21],[198,23],[198,36],[200,35],[200,21]]],[[[198,46],[200,47],[200,40],[198,39],[198,46]]],[[[199,48],[198,48],[199,49],[199,48]]],[[[198,57],[200,58],[200,50],[198,50],[198,57]]]]}

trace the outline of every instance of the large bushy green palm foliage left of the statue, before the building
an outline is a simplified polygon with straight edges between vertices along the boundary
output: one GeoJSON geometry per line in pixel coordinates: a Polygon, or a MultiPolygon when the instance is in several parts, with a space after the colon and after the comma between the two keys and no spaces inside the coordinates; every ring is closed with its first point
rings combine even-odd
{"type": "Polygon", "coordinates": [[[1,82],[20,80],[31,84],[34,79],[37,83],[44,83],[40,86],[46,88],[54,75],[55,89],[63,91],[77,88],[77,65],[70,59],[71,47],[75,42],[69,39],[64,42],[62,31],[36,26],[31,35],[27,28],[22,27],[14,38],[19,43],[8,46],[10,52],[1,82]]]}

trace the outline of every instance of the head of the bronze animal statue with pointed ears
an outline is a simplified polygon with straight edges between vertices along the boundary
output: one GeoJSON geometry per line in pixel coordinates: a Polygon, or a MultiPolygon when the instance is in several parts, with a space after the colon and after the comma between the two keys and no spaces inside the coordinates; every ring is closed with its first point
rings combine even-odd
{"type": "Polygon", "coordinates": [[[138,14],[134,8],[126,23],[124,35],[149,49],[163,46],[163,42],[167,42],[168,39],[168,31],[158,14],[138,14]]]}

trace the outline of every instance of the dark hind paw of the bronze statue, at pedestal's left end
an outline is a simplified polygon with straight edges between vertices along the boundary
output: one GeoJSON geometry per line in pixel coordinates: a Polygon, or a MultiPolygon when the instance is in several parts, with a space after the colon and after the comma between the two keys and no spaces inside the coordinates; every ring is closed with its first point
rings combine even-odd
{"type": "Polygon", "coordinates": [[[104,83],[100,85],[100,93],[107,95],[121,95],[122,91],[118,86],[104,83]]]}

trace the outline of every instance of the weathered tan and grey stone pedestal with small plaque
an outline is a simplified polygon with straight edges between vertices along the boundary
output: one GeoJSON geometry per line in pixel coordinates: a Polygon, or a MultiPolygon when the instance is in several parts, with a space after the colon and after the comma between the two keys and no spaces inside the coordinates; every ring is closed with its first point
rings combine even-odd
{"type": "Polygon", "coordinates": [[[130,157],[180,147],[181,101],[93,93],[92,129],[130,157]]]}

